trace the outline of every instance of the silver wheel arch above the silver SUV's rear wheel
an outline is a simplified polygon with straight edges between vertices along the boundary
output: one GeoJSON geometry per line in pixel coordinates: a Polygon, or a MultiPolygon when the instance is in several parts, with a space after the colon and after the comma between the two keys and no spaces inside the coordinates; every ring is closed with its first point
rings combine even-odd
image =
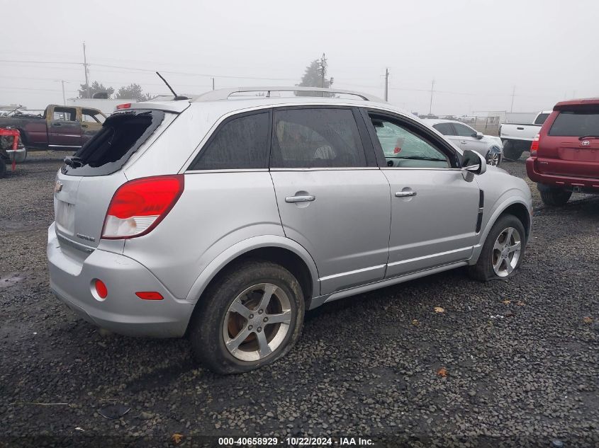
{"type": "Polygon", "coordinates": [[[289,270],[300,283],[306,309],[310,308],[310,300],[320,294],[316,264],[303,246],[284,236],[255,236],[223,251],[202,270],[186,297],[187,301],[194,303],[194,312],[203,292],[220,272],[233,263],[252,258],[271,261],[289,270]]]}

